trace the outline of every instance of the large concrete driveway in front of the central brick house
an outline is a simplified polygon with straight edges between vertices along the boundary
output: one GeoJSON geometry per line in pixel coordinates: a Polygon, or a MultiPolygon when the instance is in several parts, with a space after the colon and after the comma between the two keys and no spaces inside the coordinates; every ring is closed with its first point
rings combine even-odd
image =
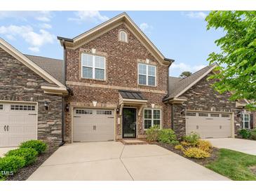
{"type": "Polygon", "coordinates": [[[28,180],[229,180],[156,145],[66,144],[28,180]]]}

